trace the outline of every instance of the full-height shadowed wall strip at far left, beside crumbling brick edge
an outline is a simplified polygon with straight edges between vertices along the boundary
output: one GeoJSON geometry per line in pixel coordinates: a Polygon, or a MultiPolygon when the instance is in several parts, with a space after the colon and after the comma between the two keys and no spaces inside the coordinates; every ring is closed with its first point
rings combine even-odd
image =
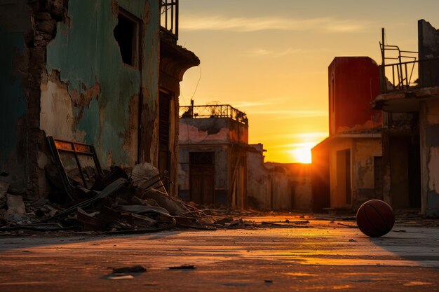
{"type": "Polygon", "coordinates": [[[0,169],[25,180],[27,55],[31,28],[27,1],[0,2],[0,169]],[[14,167],[12,167],[14,166],[14,167]]]}

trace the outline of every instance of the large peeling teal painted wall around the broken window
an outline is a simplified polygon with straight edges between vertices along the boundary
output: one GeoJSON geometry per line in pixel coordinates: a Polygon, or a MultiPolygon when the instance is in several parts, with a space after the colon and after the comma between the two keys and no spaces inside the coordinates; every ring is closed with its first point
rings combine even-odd
{"type": "Polygon", "coordinates": [[[137,156],[123,148],[130,127],[130,100],[144,88],[144,104],[155,110],[158,90],[158,1],[123,0],[118,4],[146,23],[141,38],[142,71],[122,62],[113,34],[117,15],[111,0],[69,1],[69,22],[58,23],[57,35],[47,48],[48,74],[58,70],[70,95],[100,85],[97,99],[74,105],[72,112],[74,130],[85,132],[84,141],[95,145],[102,165],[127,165],[129,157],[137,156]]]}

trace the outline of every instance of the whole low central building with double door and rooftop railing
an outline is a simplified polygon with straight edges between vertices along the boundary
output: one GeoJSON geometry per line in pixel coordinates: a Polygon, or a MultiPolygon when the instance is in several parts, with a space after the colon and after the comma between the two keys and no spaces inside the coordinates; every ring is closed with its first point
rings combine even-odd
{"type": "Polygon", "coordinates": [[[225,105],[180,106],[178,194],[198,204],[246,207],[248,119],[225,105]]]}

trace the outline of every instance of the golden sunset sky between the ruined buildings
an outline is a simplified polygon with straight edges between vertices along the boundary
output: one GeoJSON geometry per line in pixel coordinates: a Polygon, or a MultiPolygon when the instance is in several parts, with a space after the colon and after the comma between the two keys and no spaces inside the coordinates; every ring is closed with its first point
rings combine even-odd
{"type": "Polygon", "coordinates": [[[381,27],[386,44],[417,50],[419,19],[438,29],[439,0],[181,0],[179,44],[201,65],[184,75],[180,105],[231,104],[266,161],[304,162],[327,137],[334,57],[380,64],[381,27]]]}

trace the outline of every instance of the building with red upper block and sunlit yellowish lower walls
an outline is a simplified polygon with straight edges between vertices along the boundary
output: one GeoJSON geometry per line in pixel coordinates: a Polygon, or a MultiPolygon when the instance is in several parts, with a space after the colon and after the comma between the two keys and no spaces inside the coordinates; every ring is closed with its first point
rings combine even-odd
{"type": "Polygon", "coordinates": [[[313,211],[356,209],[382,199],[379,67],[370,57],[335,57],[328,69],[330,136],[311,150],[313,211]]]}

